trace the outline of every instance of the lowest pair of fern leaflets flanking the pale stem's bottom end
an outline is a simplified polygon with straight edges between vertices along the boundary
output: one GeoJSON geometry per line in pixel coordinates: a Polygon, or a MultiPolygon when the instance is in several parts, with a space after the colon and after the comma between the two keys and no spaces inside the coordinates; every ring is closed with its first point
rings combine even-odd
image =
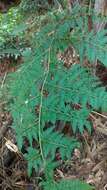
{"type": "Polygon", "coordinates": [[[32,168],[36,171],[40,170],[43,166],[43,160],[52,162],[55,159],[57,150],[61,155],[62,160],[70,159],[71,152],[75,147],[79,147],[79,143],[75,139],[64,137],[62,134],[55,132],[54,128],[49,128],[43,131],[41,135],[42,150],[37,151],[35,148],[28,148],[28,153],[25,158],[28,160],[28,173],[31,175],[32,168]],[[70,151],[69,151],[70,150],[70,151]],[[43,158],[43,160],[42,160],[43,158]]]}

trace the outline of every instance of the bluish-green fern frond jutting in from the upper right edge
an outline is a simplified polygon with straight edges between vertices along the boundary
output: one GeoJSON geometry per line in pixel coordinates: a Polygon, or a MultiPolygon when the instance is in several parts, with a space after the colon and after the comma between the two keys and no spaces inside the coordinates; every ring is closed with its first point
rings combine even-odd
{"type": "MultiPolygon", "coordinates": [[[[92,30],[89,35],[87,35],[87,30],[81,32],[78,31],[80,34],[80,44],[77,47],[81,56],[80,58],[83,60],[83,58],[87,57],[91,63],[95,63],[98,59],[107,66],[107,30],[103,29],[96,34],[95,31],[92,30]]],[[[78,39],[77,41],[75,40],[75,43],[78,44],[78,39]]]]}

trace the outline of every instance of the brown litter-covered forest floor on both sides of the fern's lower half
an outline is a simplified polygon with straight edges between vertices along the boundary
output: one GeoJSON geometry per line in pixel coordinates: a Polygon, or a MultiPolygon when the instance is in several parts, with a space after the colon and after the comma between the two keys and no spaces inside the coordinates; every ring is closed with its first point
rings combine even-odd
{"type": "MultiPolygon", "coordinates": [[[[3,66],[0,88],[5,83],[8,71],[3,66]]],[[[15,68],[11,69],[14,70],[15,68]]],[[[0,189],[38,190],[41,174],[33,172],[29,179],[23,156],[11,150],[11,143],[16,144],[16,139],[6,104],[4,98],[0,100],[0,189]]],[[[92,134],[87,131],[82,136],[77,134],[81,149],[74,150],[69,162],[61,163],[55,171],[55,179],[82,179],[94,185],[96,190],[107,190],[107,114],[93,113],[92,122],[92,134]]]]}

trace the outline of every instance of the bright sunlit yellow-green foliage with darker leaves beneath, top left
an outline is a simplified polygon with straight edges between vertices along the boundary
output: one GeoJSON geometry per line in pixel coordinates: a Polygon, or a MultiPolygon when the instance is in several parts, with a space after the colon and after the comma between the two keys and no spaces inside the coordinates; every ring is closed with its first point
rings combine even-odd
{"type": "Polygon", "coordinates": [[[19,9],[11,8],[6,14],[0,14],[0,58],[15,57],[17,59],[29,46],[25,42],[23,32],[25,24],[22,23],[23,17],[19,9]],[[18,29],[21,28],[20,36],[16,33],[17,26],[18,29]]]}

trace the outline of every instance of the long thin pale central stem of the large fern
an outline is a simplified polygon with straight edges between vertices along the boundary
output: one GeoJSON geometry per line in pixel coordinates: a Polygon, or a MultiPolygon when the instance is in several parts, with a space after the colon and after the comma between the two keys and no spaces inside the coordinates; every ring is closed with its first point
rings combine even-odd
{"type": "Polygon", "coordinates": [[[41,115],[42,115],[42,104],[43,104],[43,91],[44,91],[44,86],[46,84],[48,74],[49,74],[49,64],[50,64],[50,48],[49,48],[47,71],[46,71],[45,79],[43,81],[42,88],[41,88],[41,99],[40,99],[40,109],[39,109],[39,145],[40,145],[40,152],[41,152],[41,156],[42,156],[42,160],[44,162],[44,165],[45,165],[45,158],[44,158],[44,155],[43,155],[42,139],[41,139],[41,115]]]}

